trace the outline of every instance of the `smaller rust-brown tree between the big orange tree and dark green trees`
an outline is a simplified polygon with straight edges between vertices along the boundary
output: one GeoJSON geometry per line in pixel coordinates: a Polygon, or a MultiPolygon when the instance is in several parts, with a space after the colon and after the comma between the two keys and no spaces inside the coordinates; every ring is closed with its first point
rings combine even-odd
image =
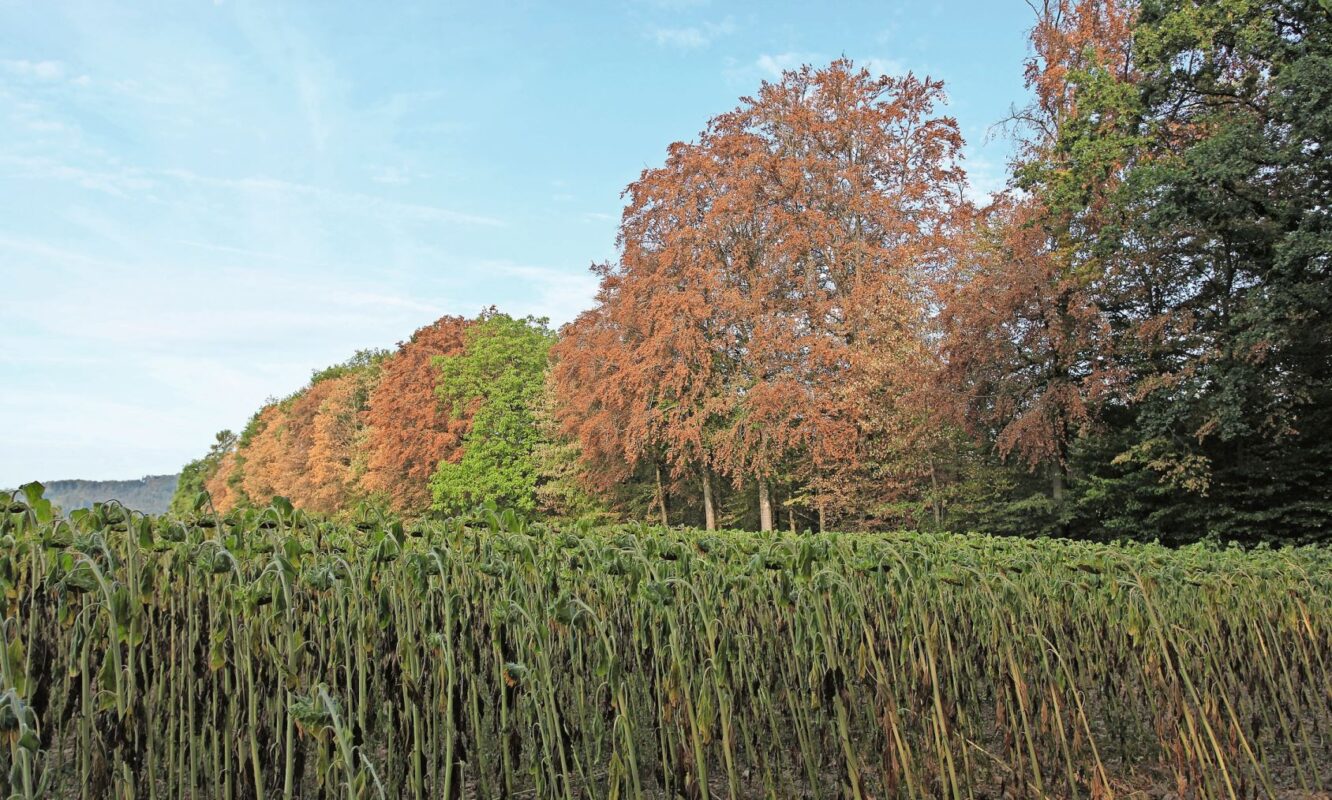
{"type": "Polygon", "coordinates": [[[1003,196],[979,217],[946,294],[944,381],[962,387],[962,418],[1000,455],[1052,470],[1115,385],[1094,353],[1110,329],[1092,289],[1071,273],[1032,197],[1003,196]]]}

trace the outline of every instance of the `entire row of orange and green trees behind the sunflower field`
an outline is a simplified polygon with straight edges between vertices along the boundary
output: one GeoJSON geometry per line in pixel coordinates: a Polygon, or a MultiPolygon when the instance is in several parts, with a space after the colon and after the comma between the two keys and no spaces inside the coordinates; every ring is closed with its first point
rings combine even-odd
{"type": "Polygon", "coordinates": [[[943,85],[765,83],[625,192],[562,330],[444,318],[177,500],[1312,540],[1332,519],[1332,12],[1044,0],[1004,190],[943,85]]]}

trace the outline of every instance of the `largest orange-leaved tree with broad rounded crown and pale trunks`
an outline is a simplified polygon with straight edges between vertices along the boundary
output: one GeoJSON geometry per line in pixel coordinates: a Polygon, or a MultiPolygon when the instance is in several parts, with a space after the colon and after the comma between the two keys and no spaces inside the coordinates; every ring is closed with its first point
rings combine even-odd
{"type": "Polygon", "coordinates": [[[822,510],[860,466],[866,386],[904,394],[923,362],[931,276],[963,205],[940,97],[936,81],[846,60],[805,67],[629,186],[619,262],[555,349],[563,430],[585,458],[701,473],[705,504],[713,470],[757,483],[763,528],[782,475],[822,510]]]}

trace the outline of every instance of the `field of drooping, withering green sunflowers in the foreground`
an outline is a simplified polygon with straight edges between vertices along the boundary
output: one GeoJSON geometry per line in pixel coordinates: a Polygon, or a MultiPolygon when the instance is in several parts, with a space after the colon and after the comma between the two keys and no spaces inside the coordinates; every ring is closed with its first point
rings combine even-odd
{"type": "Polygon", "coordinates": [[[7,511],[7,795],[1332,784],[1319,550],[7,511]]]}

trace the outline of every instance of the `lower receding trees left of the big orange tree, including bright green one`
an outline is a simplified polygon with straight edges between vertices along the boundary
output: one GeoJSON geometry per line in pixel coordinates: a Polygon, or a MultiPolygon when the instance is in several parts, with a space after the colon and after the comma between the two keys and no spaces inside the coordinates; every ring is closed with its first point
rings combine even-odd
{"type": "Polygon", "coordinates": [[[285,497],[322,514],[362,504],[464,512],[486,499],[534,512],[546,353],[542,319],[490,309],[442,317],[394,351],[365,350],[221,431],[190,462],[172,510],[206,491],[220,510],[285,497]]]}

